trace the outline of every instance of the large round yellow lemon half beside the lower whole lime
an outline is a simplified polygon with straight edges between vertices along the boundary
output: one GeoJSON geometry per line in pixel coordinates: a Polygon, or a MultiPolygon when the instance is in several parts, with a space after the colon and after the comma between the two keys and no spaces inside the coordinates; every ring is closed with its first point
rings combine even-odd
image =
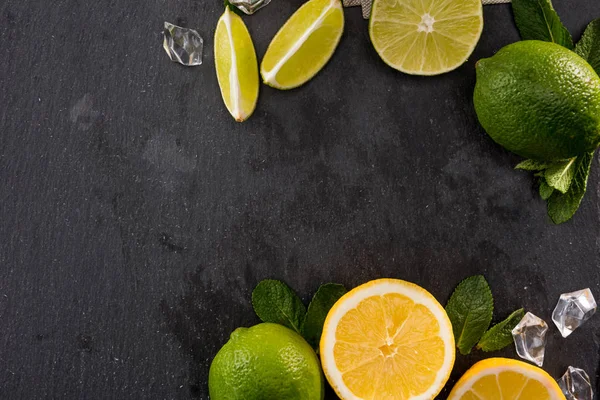
{"type": "Polygon", "coordinates": [[[325,320],[321,363],[343,400],[433,399],[454,364],[446,311],[425,289],[378,279],[345,294],[325,320]]]}

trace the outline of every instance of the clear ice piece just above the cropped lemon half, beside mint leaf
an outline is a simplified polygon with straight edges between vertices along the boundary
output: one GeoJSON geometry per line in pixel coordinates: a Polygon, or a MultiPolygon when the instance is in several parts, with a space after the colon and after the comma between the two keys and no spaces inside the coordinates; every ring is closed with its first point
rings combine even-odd
{"type": "Polygon", "coordinates": [[[548,324],[546,321],[530,312],[525,314],[523,319],[512,330],[513,340],[519,357],[541,367],[544,364],[547,331],[548,324]]]}

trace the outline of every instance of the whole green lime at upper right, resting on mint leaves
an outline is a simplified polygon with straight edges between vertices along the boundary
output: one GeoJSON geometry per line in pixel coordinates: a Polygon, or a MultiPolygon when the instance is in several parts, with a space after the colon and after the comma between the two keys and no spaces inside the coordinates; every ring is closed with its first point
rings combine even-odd
{"type": "Polygon", "coordinates": [[[574,52],[526,40],[480,60],[476,70],[477,117],[507,150],[555,161],[600,144],[600,78],[574,52]]]}

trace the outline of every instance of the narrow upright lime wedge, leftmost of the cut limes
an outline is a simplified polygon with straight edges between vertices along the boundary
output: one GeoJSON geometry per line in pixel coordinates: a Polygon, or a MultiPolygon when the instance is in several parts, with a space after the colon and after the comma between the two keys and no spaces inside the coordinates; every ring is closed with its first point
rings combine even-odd
{"type": "Polygon", "coordinates": [[[236,121],[245,121],[258,100],[258,62],[244,21],[229,7],[217,23],[215,67],[227,110],[236,121]]]}

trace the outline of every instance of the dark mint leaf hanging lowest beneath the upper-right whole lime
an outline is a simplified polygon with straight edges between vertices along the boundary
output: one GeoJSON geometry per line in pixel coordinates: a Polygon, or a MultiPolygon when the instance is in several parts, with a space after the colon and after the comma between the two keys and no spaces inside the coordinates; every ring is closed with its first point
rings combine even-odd
{"type": "Polygon", "coordinates": [[[567,193],[554,192],[548,199],[548,215],[555,224],[568,221],[579,208],[585,195],[593,159],[594,153],[577,157],[574,167],[575,176],[567,193]]]}

